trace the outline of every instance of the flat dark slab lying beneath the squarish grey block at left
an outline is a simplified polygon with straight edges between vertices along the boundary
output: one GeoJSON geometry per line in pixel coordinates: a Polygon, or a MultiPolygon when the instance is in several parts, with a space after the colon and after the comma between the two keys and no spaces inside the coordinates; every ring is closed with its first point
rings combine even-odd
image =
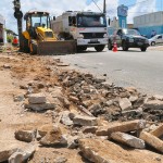
{"type": "Polygon", "coordinates": [[[53,110],[55,108],[55,104],[54,103],[41,103],[41,104],[28,103],[28,104],[25,104],[24,108],[39,112],[43,110],[53,110]]]}

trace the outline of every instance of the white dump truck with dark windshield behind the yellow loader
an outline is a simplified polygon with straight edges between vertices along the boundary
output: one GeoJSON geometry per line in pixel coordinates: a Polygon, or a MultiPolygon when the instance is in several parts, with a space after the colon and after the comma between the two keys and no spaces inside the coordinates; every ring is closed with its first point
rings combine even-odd
{"type": "Polygon", "coordinates": [[[61,40],[75,40],[77,51],[95,47],[100,52],[108,45],[105,14],[99,12],[66,11],[51,21],[51,27],[61,40]]]}

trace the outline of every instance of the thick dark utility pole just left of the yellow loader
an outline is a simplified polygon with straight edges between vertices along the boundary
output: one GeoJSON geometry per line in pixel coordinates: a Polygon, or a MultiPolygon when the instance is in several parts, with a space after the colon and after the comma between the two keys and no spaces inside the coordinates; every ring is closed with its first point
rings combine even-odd
{"type": "Polygon", "coordinates": [[[23,18],[23,13],[21,11],[21,2],[20,2],[20,0],[14,0],[13,4],[14,4],[14,17],[17,20],[20,51],[23,51],[23,40],[22,40],[22,18],[23,18]]]}

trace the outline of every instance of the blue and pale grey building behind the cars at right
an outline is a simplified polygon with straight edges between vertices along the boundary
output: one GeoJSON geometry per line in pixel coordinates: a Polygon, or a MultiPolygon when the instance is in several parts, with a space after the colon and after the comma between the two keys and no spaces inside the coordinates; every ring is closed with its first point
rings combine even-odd
{"type": "Polygon", "coordinates": [[[152,32],[163,34],[163,11],[134,17],[134,28],[148,38],[151,38],[152,32]]]}

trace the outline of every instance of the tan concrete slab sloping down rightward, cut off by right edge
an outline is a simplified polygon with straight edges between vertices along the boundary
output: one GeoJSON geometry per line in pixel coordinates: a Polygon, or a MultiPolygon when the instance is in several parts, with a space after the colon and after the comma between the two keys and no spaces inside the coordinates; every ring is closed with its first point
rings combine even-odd
{"type": "Polygon", "coordinates": [[[141,131],[139,138],[145,140],[146,143],[150,145],[151,147],[163,153],[163,141],[158,137],[151,135],[150,133],[141,131]]]}

